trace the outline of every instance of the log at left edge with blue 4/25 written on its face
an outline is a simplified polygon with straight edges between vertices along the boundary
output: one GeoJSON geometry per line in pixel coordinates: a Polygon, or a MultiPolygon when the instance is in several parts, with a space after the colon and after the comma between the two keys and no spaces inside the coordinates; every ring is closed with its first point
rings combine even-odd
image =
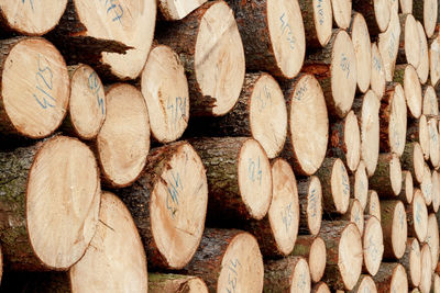
{"type": "Polygon", "coordinates": [[[0,134],[51,135],[63,122],[69,100],[63,56],[40,37],[2,40],[0,48],[0,134]]]}

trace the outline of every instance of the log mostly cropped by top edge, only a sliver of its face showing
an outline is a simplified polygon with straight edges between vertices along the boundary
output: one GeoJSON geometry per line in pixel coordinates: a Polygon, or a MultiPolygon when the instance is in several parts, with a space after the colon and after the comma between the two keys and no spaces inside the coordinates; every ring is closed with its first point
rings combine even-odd
{"type": "Polygon", "coordinates": [[[161,0],[157,1],[161,13],[167,21],[178,21],[202,5],[207,0],[161,0]]]}

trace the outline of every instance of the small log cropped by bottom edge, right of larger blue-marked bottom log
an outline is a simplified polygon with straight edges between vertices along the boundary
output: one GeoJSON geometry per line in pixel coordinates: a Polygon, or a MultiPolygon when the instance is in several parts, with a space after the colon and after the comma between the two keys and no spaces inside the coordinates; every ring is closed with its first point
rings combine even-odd
{"type": "Polygon", "coordinates": [[[268,260],[265,263],[265,293],[310,292],[310,270],[302,257],[268,260]]]}

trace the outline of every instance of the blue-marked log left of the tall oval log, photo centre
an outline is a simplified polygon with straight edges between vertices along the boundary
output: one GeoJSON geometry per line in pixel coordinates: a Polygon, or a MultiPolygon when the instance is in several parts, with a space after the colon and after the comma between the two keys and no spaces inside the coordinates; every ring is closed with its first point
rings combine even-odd
{"type": "MultiPolygon", "coordinates": [[[[326,103],[322,104],[326,111],[326,103]]],[[[321,116],[327,115],[323,111],[321,116]]],[[[191,117],[188,132],[196,137],[251,136],[270,158],[275,158],[286,142],[287,117],[286,101],[277,81],[268,74],[252,72],[244,77],[239,101],[231,112],[220,117],[191,117]]]]}

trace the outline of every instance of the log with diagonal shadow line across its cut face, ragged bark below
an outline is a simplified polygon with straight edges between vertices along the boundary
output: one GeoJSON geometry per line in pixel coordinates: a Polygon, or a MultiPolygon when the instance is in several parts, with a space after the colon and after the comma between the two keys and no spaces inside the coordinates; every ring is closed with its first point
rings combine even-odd
{"type": "Polygon", "coordinates": [[[224,1],[205,3],[182,21],[157,30],[155,37],[184,63],[191,115],[221,116],[234,106],[244,80],[244,49],[224,1]]]}

